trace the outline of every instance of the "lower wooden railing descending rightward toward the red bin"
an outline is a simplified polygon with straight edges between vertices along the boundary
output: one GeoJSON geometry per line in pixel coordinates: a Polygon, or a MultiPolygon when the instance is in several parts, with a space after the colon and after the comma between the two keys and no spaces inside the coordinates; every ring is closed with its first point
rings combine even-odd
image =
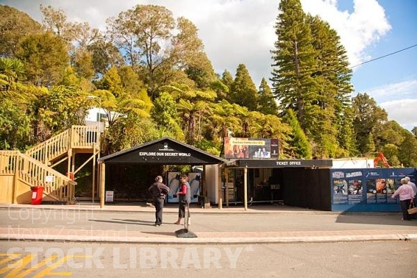
{"type": "Polygon", "coordinates": [[[13,174],[26,186],[43,186],[44,195],[62,202],[72,202],[76,182],[65,175],[16,151],[0,151],[0,174],[13,174]]]}

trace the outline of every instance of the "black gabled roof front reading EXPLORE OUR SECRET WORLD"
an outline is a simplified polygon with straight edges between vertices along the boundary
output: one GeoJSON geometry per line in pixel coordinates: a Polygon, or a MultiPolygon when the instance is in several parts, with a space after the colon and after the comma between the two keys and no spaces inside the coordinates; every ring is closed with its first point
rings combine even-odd
{"type": "Polygon", "coordinates": [[[135,163],[159,165],[208,165],[225,160],[201,149],[169,137],[147,142],[137,147],[99,158],[102,163],[135,163]]]}

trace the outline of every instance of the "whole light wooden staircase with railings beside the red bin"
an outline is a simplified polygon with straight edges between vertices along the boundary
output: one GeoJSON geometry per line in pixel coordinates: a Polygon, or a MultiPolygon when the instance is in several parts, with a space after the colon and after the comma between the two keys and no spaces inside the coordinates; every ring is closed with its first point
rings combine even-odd
{"type": "MultiPolygon", "coordinates": [[[[28,187],[43,186],[44,196],[72,204],[76,186],[73,181],[76,172],[74,156],[77,153],[92,153],[92,158],[95,158],[100,152],[99,140],[97,126],[72,126],[71,129],[28,149],[25,154],[18,151],[0,151],[0,184],[3,189],[6,185],[6,190],[0,193],[0,202],[10,200],[10,203],[19,203],[19,195],[27,192],[28,187]],[[52,168],[66,159],[67,175],[52,168]]],[[[93,174],[93,184],[94,177],[93,174]]],[[[24,202],[27,202],[27,196],[24,202]]]]}

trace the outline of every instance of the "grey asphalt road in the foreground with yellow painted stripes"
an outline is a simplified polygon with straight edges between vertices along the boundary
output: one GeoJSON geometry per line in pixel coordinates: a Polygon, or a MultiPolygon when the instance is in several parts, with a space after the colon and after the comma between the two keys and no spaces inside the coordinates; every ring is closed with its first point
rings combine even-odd
{"type": "Polygon", "coordinates": [[[0,277],[417,277],[416,241],[0,244],[0,277]]]}

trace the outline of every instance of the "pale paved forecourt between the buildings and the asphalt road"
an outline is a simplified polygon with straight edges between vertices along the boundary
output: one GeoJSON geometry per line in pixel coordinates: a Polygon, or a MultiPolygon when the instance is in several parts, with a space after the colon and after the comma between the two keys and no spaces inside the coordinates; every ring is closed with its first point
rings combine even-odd
{"type": "Polygon", "coordinates": [[[223,209],[192,205],[196,238],[178,238],[178,207],[164,208],[164,224],[153,227],[147,204],[0,205],[1,240],[58,240],[122,243],[301,243],[417,240],[417,220],[400,213],[339,213],[291,206],[223,209]]]}

